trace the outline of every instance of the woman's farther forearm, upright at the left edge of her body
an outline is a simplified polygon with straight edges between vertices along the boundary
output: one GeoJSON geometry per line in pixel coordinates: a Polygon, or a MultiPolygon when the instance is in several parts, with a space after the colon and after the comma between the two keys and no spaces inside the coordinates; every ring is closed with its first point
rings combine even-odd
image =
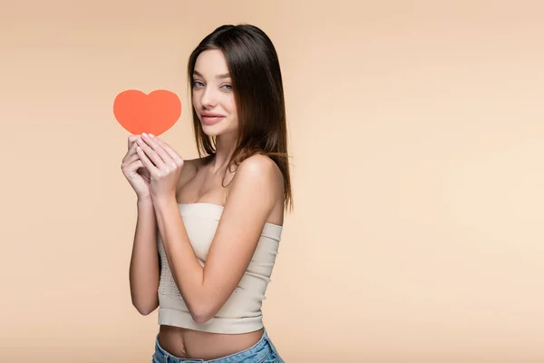
{"type": "Polygon", "coordinates": [[[159,305],[160,280],[157,222],[151,200],[138,200],[138,220],[132,246],[129,279],[132,304],[147,315],[159,305]]]}

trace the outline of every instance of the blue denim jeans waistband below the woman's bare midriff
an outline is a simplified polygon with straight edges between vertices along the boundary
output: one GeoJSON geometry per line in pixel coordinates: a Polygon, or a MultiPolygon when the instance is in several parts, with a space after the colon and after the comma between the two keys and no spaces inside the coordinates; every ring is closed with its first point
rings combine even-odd
{"type": "Polygon", "coordinates": [[[155,338],[155,353],[152,363],[285,363],[277,354],[272,340],[268,338],[267,329],[264,329],[263,336],[257,343],[246,350],[232,354],[227,357],[204,360],[195,358],[178,358],[160,347],[159,336],[155,338]]]}

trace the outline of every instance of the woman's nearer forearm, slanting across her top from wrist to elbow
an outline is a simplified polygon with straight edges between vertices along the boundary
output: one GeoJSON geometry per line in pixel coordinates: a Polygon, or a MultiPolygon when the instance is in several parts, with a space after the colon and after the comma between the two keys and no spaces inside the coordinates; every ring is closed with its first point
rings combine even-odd
{"type": "Polygon", "coordinates": [[[174,197],[153,201],[157,223],[172,277],[189,311],[199,322],[206,319],[204,269],[189,242],[185,225],[174,197]]]}

